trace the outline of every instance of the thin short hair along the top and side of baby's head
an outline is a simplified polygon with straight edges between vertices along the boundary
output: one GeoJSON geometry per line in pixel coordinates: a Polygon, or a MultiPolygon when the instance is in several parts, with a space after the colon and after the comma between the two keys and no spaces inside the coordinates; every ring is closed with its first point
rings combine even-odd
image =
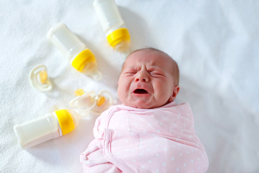
{"type": "MultiPolygon", "coordinates": [[[[160,52],[160,53],[164,53],[164,54],[166,54],[171,60],[172,60],[172,64],[173,64],[173,70],[172,70],[172,75],[174,76],[174,77],[176,77],[176,85],[178,85],[179,84],[179,67],[178,67],[178,65],[177,65],[177,63],[176,63],[176,61],[172,58],[172,57],[170,57],[167,53],[165,53],[165,52],[163,52],[163,51],[161,51],[161,50],[158,50],[158,49],[155,49],[155,48],[153,48],[153,47],[147,47],[147,48],[142,48],[142,49],[138,49],[138,50],[135,50],[135,51],[133,51],[133,52],[131,52],[128,56],[127,56],[127,58],[132,54],[132,53],[134,53],[134,52],[139,52],[139,51],[154,51],[154,52],[160,52]]],[[[126,59],[127,59],[126,58],[126,59]]],[[[125,61],[124,61],[125,62],[125,61]]],[[[123,67],[124,67],[124,64],[123,64],[123,67]]],[[[123,69],[123,67],[122,67],[122,69],[123,69]]]]}

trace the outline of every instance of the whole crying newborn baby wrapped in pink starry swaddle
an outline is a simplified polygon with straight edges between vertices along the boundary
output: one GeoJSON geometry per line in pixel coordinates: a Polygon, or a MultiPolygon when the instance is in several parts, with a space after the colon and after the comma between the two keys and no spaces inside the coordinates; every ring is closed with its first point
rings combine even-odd
{"type": "Polygon", "coordinates": [[[189,103],[174,102],[178,82],[178,65],[168,54],[132,52],[118,81],[123,104],[96,119],[95,139],[80,155],[84,172],[206,172],[189,103]]]}

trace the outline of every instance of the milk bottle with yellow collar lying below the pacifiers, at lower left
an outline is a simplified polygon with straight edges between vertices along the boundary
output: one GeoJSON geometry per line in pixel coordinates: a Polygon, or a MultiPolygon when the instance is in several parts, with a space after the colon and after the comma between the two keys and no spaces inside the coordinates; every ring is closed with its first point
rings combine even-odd
{"type": "Polygon", "coordinates": [[[65,135],[79,123],[75,110],[61,109],[13,127],[21,149],[65,135]]]}

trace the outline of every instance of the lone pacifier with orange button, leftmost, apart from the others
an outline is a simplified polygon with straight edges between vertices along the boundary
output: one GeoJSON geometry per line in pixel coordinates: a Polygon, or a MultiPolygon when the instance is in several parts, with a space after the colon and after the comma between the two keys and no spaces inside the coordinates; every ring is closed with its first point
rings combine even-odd
{"type": "Polygon", "coordinates": [[[29,80],[31,86],[39,91],[49,91],[52,88],[45,65],[35,66],[29,74],[29,80]]]}

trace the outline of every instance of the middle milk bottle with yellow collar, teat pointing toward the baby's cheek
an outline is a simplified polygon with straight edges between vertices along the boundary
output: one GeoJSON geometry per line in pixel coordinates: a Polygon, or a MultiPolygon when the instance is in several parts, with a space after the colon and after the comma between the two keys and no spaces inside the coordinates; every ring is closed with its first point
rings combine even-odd
{"type": "Polygon", "coordinates": [[[95,80],[102,79],[93,53],[65,24],[54,25],[48,31],[47,38],[60,49],[76,70],[91,75],[95,80]]]}

